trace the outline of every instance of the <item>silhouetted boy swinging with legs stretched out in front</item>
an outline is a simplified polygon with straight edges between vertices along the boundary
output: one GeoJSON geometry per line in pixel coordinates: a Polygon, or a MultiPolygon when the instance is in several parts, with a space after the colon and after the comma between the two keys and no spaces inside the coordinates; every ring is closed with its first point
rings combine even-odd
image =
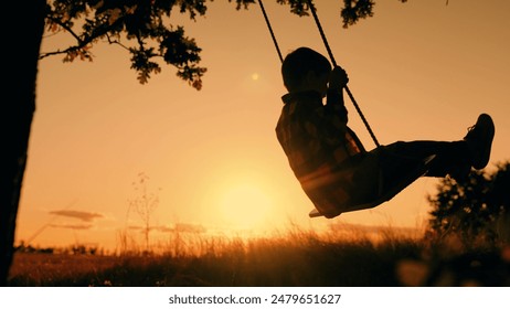
{"type": "Polygon", "coordinates": [[[291,170],[319,215],[376,206],[421,175],[466,179],[489,162],[495,125],[481,114],[456,141],[397,141],[366,151],[348,127],[341,67],[308,47],[289,53],[281,64],[288,94],[276,126],[291,170]],[[326,104],[322,99],[326,97],[326,104]]]}

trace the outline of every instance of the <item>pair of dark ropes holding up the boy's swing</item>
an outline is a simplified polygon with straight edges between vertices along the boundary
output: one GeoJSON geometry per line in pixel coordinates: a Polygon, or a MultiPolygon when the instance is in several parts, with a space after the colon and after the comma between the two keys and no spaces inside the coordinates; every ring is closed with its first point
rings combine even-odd
{"type": "MultiPolygon", "coordinates": [[[[314,20],[317,24],[317,28],[319,29],[320,36],[322,38],[322,42],[326,46],[326,50],[328,51],[329,57],[331,60],[331,63],[333,66],[337,66],[337,62],[334,61],[333,53],[331,52],[331,47],[329,46],[328,40],[326,39],[325,31],[322,29],[322,25],[320,24],[319,17],[317,15],[316,9],[311,2],[311,0],[307,0],[308,7],[310,8],[311,14],[314,15],[314,20]]],[[[273,28],[270,25],[269,19],[267,17],[266,10],[264,9],[264,4],[262,3],[262,0],[258,0],[258,4],[261,6],[262,13],[264,14],[264,19],[266,20],[267,28],[269,29],[270,35],[273,38],[273,42],[275,44],[276,51],[278,53],[279,60],[284,62],[284,57],[281,56],[281,52],[278,46],[278,42],[276,41],[275,33],[273,32],[273,28]]],[[[380,147],[381,145],[378,141],[378,138],[375,137],[372,128],[369,125],[369,121],[364,117],[363,113],[361,111],[360,106],[358,105],[357,100],[354,99],[354,96],[352,95],[351,90],[349,87],[346,85],[344,87],[347,94],[349,95],[349,98],[351,99],[352,104],[354,105],[355,110],[360,115],[361,120],[363,121],[364,126],[366,127],[366,130],[369,131],[370,136],[372,137],[372,140],[374,141],[376,147],[380,147]]]]}

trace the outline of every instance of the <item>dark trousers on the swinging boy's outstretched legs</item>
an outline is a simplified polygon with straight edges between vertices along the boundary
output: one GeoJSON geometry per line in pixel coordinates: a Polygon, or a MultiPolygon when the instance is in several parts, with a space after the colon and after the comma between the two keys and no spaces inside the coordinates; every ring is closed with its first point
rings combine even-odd
{"type": "MultiPolygon", "coordinates": [[[[470,170],[466,141],[397,141],[378,147],[354,159],[351,190],[353,201],[363,203],[405,189],[417,178],[467,175],[470,170]],[[427,158],[434,159],[424,166],[427,158]],[[396,192],[395,192],[396,190],[396,192]]],[[[394,195],[392,194],[392,195],[394,195]]]]}

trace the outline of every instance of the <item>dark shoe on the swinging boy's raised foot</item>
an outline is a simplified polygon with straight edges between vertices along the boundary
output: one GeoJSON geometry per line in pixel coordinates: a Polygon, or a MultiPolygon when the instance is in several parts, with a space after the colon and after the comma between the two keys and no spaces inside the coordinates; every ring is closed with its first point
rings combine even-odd
{"type": "Polygon", "coordinates": [[[489,162],[493,137],[495,124],[492,118],[487,114],[481,114],[464,138],[471,153],[471,166],[475,169],[481,170],[489,162]]]}

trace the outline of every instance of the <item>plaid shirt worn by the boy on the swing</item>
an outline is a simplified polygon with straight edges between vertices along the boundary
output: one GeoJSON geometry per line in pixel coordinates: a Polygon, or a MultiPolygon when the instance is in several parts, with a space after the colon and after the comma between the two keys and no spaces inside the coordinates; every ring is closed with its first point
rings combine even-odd
{"type": "Polygon", "coordinates": [[[283,96],[284,107],[276,136],[290,168],[315,206],[334,216],[338,205],[349,201],[351,172],[346,159],[365,149],[347,126],[348,113],[341,93],[328,92],[327,103],[317,92],[283,96]]]}

